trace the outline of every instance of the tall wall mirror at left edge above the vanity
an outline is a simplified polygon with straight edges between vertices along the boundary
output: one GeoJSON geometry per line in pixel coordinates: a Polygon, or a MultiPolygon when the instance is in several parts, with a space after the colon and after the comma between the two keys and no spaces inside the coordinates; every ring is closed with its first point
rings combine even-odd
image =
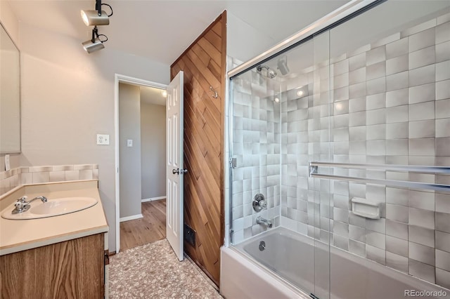
{"type": "Polygon", "coordinates": [[[0,154],[12,154],[20,152],[20,53],[0,25],[0,154]]]}

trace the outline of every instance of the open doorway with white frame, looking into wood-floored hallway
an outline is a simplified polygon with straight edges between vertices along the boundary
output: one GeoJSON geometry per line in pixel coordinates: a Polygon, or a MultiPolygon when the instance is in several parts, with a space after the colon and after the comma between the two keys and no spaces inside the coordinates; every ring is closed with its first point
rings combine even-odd
{"type": "Polygon", "coordinates": [[[115,75],[116,253],[166,237],[166,88],[115,75]]]}

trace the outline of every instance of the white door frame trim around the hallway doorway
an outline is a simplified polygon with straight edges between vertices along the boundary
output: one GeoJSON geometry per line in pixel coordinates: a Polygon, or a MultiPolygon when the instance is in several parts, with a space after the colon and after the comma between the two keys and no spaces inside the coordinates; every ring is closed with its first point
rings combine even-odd
{"type": "Polygon", "coordinates": [[[119,147],[119,84],[147,86],[167,89],[167,84],[129,77],[123,74],[114,75],[114,152],[115,152],[115,252],[120,251],[120,147],[119,147]]]}

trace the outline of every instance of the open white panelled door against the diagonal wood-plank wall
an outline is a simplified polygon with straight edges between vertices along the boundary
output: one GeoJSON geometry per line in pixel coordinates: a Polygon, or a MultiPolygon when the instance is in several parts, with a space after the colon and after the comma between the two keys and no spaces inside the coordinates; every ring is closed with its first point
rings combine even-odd
{"type": "Polygon", "coordinates": [[[167,210],[166,236],[179,260],[183,260],[183,72],[167,86],[167,210]]]}

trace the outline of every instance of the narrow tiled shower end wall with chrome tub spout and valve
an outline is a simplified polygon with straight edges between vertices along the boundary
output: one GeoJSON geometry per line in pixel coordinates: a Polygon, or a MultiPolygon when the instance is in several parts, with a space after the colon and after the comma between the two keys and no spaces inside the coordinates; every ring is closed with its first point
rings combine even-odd
{"type": "Polygon", "coordinates": [[[280,217],[280,104],[274,102],[277,81],[248,72],[233,79],[233,243],[248,239],[266,227],[256,224],[257,216],[274,227],[280,217]],[[266,197],[267,209],[252,208],[255,194],[266,197]]]}

